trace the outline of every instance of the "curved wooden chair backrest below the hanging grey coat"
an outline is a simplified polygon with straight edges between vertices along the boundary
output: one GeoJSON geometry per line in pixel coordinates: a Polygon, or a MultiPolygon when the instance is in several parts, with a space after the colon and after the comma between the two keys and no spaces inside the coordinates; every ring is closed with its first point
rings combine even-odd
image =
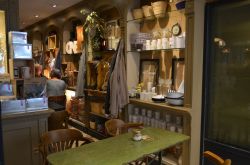
{"type": "Polygon", "coordinates": [[[110,119],[105,122],[105,129],[109,136],[116,136],[120,134],[124,125],[124,121],[120,119],[110,119]]]}

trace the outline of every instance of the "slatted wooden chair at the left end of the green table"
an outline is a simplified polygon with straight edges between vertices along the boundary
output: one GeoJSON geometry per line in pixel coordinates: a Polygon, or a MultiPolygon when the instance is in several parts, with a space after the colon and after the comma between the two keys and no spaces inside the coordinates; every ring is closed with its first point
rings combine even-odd
{"type": "Polygon", "coordinates": [[[58,129],[46,132],[41,137],[39,151],[42,154],[43,164],[47,165],[47,156],[54,152],[64,151],[79,146],[79,142],[88,144],[93,142],[76,129],[58,129]]]}

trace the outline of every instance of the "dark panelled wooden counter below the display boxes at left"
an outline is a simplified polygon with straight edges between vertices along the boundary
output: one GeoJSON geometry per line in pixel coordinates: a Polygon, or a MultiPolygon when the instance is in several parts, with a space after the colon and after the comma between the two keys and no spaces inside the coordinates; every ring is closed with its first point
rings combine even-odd
{"type": "Polygon", "coordinates": [[[42,133],[48,130],[52,109],[2,114],[4,164],[41,164],[37,152],[42,133]]]}

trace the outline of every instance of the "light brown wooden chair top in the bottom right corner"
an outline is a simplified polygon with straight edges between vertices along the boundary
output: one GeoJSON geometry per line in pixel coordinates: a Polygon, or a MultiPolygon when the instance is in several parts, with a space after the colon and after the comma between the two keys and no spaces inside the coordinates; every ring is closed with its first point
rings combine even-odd
{"type": "Polygon", "coordinates": [[[216,155],[215,153],[212,153],[211,151],[205,151],[203,153],[203,156],[213,162],[215,165],[231,165],[230,159],[222,159],[220,156],[216,155]]]}

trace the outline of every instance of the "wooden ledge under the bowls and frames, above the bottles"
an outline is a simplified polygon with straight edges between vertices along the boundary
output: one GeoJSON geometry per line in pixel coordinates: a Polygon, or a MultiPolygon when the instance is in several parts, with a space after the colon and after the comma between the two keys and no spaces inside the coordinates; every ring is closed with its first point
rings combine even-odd
{"type": "Polygon", "coordinates": [[[155,103],[153,101],[142,101],[142,100],[133,99],[133,98],[129,99],[129,103],[152,108],[152,109],[160,109],[160,110],[167,110],[167,111],[171,111],[171,112],[176,112],[176,113],[180,113],[183,115],[188,115],[190,117],[190,110],[191,109],[183,107],[183,106],[171,106],[171,105],[168,105],[166,103],[155,103]]]}

